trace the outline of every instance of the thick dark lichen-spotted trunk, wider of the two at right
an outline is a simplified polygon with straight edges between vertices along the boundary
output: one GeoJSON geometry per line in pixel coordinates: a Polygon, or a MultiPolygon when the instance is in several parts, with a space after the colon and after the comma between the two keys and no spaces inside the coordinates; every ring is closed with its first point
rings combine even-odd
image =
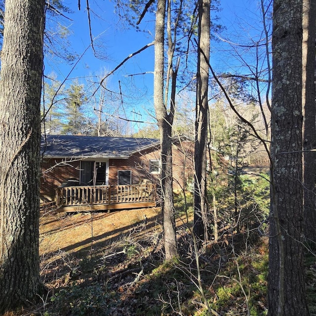
{"type": "Polygon", "coordinates": [[[302,1],[275,0],[273,15],[270,316],[309,315],[303,262],[302,1]]]}

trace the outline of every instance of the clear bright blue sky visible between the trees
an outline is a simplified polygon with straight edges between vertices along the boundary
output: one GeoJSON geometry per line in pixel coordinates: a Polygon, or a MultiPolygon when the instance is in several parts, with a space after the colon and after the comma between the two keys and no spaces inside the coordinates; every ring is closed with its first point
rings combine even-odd
{"type": "MultiPolygon", "coordinates": [[[[82,1],[81,1],[82,2],[82,1]]],[[[86,84],[86,77],[95,76],[103,71],[113,70],[129,54],[137,51],[144,45],[154,40],[154,22],[152,17],[146,17],[141,23],[141,27],[148,32],[135,32],[124,28],[123,23],[118,21],[115,13],[114,3],[108,0],[90,0],[92,35],[96,40],[96,46],[100,44],[102,59],[97,59],[93,55],[90,45],[90,35],[88,28],[87,12],[85,2],[81,3],[81,10],[76,4],[68,5],[74,13],[67,14],[72,21],[66,21],[69,25],[70,36],[68,38],[71,49],[81,55],[85,49],[87,51],[78,62],[77,66],[69,76],[70,79],[79,78],[79,82],[86,84]],[[97,4],[99,3],[99,4],[97,4]],[[97,15],[97,16],[96,16],[97,15]]],[[[220,17],[219,23],[225,26],[226,30],[220,35],[233,42],[246,43],[248,36],[253,36],[254,32],[260,31],[258,25],[258,14],[260,13],[259,1],[257,0],[221,0],[222,10],[217,13],[220,17]]],[[[259,19],[260,20],[260,19],[259,19]]],[[[212,57],[211,63],[218,71],[231,71],[238,66],[238,61],[233,58],[231,45],[223,41],[211,43],[212,57]]],[[[250,58],[246,56],[245,58],[250,58]]],[[[52,60],[46,60],[46,73],[54,72],[59,80],[63,80],[69,75],[73,65],[55,64],[52,60]]],[[[139,55],[127,61],[124,66],[108,79],[107,86],[118,91],[120,81],[123,94],[130,95],[130,100],[126,101],[126,113],[132,118],[131,111],[141,111],[153,108],[153,72],[154,71],[154,46],[147,48],[139,55]],[[126,77],[126,75],[146,73],[126,77]],[[139,91],[136,93],[136,91],[139,91]],[[133,100],[133,101],[131,101],[133,100]],[[134,104],[133,104],[134,103],[134,104]]]]}

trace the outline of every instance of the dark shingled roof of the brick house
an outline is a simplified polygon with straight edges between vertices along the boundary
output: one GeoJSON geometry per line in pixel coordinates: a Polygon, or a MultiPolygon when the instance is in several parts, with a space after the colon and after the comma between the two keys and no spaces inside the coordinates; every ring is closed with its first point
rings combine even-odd
{"type": "Polygon", "coordinates": [[[153,138],[45,135],[41,139],[41,154],[45,158],[124,159],[159,144],[159,140],[153,138]]]}

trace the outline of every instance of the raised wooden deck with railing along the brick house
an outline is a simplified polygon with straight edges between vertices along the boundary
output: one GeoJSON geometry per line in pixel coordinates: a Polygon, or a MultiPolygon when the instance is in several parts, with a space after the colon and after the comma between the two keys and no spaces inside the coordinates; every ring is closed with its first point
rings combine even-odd
{"type": "Polygon", "coordinates": [[[56,189],[58,212],[156,206],[156,184],[74,186],[56,189]]]}

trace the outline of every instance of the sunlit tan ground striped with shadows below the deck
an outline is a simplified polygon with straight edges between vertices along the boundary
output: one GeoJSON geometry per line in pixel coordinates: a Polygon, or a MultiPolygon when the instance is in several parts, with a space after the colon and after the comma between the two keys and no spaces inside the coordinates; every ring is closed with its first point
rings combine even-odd
{"type": "Polygon", "coordinates": [[[146,229],[160,229],[160,209],[69,213],[63,217],[56,212],[43,212],[40,218],[40,255],[49,256],[60,251],[85,255],[130,230],[144,226],[145,221],[146,229]]]}

